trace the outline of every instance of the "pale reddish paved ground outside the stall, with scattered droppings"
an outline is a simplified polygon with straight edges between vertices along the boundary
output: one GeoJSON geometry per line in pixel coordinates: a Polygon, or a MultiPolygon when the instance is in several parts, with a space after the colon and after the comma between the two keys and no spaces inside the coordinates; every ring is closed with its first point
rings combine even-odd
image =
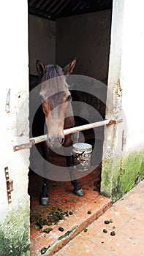
{"type": "Polygon", "coordinates": [[[56,256],[144,256],[144,181],[118,200],[56,256]],[[105,220],[111,221],[105,224],[105,220]],[[103,230],[106,229],[107,233],[103,230]],[[86,230],[85,230],[86,231],[86,230]],[[110,232],[114,231],[115,236],[110,232]]]}

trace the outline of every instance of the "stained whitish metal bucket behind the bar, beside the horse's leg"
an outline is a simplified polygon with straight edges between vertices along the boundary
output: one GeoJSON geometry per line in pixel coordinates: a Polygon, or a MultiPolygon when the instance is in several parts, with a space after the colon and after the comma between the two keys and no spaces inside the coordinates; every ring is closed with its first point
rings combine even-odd
{"type": "Polygon", "coordinates": [[[84,171],[91,167],[92,146],[87,143],[75,143],[72,146],[72,163],[76,170],[84,171]]]}

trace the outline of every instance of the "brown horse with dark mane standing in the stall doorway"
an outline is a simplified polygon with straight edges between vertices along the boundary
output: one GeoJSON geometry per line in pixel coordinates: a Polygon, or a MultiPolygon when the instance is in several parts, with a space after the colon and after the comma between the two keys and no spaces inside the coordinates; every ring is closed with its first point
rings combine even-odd
{"type": "MultiPolygon", "coordinates": [[[[30,91],[40,85],[38,98],[40,97],[41,103],[32,120],[30,118],[30,131],[34,137],[43,135],[44,125],[46,124],[48,131],[47,141],[37,144],[37,150],[44,159],[48,160],[49,148],[53,150],[64,146],[64,151],[68,152],[65,155],[70,180],[74,187],[73,192],[81,197],[84,192],[80,185],[77,184],[72,167],[72,156],[69,152],[69,148],[72,146],[72,135],[64,136],[64,129],[75,126],[71,93],[67,84],[67,75],[72,74],[75,64],[76,59],[73,59],[64,68],[58,65],[45,66],[42,61],[36,61],[38,75],[29,75],[29,85],[30,91]]],[[[35,101],[37,100],[39,99],[35,99],[35,101]]],[[[30,97],[30,113],[32,103],[30,97]]],[[[43,178],[40,203],[44,206],[48,205],[48,198],[48,179],[43,178]]]]}

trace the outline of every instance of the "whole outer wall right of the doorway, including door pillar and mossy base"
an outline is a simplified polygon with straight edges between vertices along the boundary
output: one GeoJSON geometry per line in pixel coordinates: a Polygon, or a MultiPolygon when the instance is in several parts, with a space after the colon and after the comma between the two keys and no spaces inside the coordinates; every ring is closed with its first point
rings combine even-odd
{"type": "Polygon", "coordinates": [[[101,182],[113,201],[144,176],[143,7],[113,1],[106,118],[123,122],[105,128],[101,182]]]}

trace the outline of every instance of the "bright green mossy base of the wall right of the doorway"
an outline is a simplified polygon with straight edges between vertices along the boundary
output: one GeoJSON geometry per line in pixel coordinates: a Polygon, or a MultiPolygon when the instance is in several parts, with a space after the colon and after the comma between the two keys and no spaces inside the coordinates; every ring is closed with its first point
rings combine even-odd
{"type": "Polygon", "coordinates": [[[123,159],[105,159],[101,193],[113,202],[121,198],[144,177],[144,152],[133,151],[123,159]]]}

